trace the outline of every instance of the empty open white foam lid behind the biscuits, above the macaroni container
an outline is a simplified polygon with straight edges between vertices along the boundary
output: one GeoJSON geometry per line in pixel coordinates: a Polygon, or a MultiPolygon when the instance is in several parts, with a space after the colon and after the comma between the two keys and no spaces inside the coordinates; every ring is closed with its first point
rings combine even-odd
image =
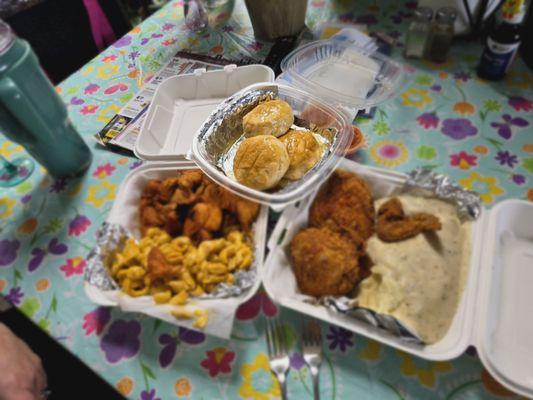
{"type": "Polygon", "coordinates": [[[198,69],[165,79],[148,108],[135,155],[147,161],[183,160],[200,126],[224,99],[251,84],[273,81],[274,72],[264,65],[198,69]]]}

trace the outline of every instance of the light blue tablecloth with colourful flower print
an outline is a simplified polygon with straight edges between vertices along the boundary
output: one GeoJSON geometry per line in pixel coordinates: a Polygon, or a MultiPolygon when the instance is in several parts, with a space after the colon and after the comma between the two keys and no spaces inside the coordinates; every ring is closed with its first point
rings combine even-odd
{"type": "MultiPolygon", "coordinates": [[[[401,59],[413,2],[309,3],[308,22],[367,24],[399,38],[401,59]]],[[[57,88],[87,139],[97,132],[179,48],[210,55],[264,57],[237,2],[222,29],[194,34],[183,26],[181,1],[134,28],[57,88]]],[[[398,98],[360,120],[367,146],[356,159],[407,171],[426,166],[476,190],[487,206],[514,197],[533,201],[532,74],[519,60],[506,79],[476,77],[476,43],[458,42],[449,61],[409,62],[398,98]]],[[[263,291],[242,306],[230,341],[161,321],[98,308],[83,292],[84,256],[105,220],[134,158],[96,145],[78,180],[52,180],[43,170],[0,193],[0,293],[129,398],[270,399],[279,388],[269,372],[264,317],[281,313],[292,343],[300,316],[278,310],[263,291]]],[[[7,158],[23,150],[0,139],[7,158]]],[[[346,330],[322,324],[324,399],[481,399],[513,396],[490,377],[471,349],[450,362],[427,362],[346,330]]],[[[289,396],[309,398],[311,381],[297,348],[289,396]]]]}

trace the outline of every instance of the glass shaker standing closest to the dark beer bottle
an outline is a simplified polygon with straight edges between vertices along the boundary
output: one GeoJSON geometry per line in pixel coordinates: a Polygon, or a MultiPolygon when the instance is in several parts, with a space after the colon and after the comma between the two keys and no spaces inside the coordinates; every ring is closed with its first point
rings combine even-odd
{"type": "Polygon", "coordinates": [[[457,10],[454,7],[439,8],[435,16],[435,22],[431,26],[429,42],[427,45],[426,58],[435,62],[444,62],[453,40],[453,25],[457,18],[457,10]]]}

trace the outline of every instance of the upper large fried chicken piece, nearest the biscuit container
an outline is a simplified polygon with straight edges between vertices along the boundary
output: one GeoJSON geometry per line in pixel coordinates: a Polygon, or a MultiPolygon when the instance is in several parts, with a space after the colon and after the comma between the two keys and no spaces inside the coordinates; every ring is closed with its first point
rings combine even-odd
{"type": "Polygon", "coordinates": [[[372,193],[365,181],[350,172],[335,171],[311,205],[309,224],[327,227],[364,247],[374,232],[372,193]]]}

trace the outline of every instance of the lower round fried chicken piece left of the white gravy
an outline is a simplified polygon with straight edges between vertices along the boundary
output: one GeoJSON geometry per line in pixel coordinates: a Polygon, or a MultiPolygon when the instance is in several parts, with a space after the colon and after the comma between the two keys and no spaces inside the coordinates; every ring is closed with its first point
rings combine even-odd
{"type": "Polygon", "coordinates": [[[311,296],[345,295],[359,282],[360,254],[344,236],[327,228],[307,228],[290,244],[298,287],[311,296]]]}

